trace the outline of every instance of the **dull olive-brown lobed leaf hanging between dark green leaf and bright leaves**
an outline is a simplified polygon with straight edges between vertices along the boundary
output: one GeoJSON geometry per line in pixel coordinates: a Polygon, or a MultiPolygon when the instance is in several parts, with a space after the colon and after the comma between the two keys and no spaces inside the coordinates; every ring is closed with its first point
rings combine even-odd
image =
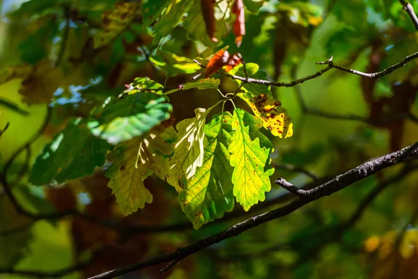
{"type": "Polygon", "coordinates": [[[109,188],[116,196],[123,215],[142,209],[153,202],[153,195],[145,188],[144,180],[153,174],[160,178],[169,173],[165,156],[171,155],[171,142],[176,140],[176,131],[169,127],[164,132],[153,130],[147,137],[137,137],[116,146],[107,156],[113,165],[106,176],[109,188]]]}

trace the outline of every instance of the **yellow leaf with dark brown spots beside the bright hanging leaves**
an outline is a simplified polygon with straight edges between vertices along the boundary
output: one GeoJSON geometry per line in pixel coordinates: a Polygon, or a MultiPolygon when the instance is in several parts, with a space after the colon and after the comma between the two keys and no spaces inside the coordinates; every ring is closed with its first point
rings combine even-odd
{"type": "Polygon", "coordinates": [[[238,94],[245,100],[254,114],[263,119],[263,126],[270,132],[279,137],[291,137],[293,135],[293,123],[291,116],[284,107],[281,107],[279,100],[274,100],[272,96],[261,94],[255,97],[249,94],[238,94]]]}

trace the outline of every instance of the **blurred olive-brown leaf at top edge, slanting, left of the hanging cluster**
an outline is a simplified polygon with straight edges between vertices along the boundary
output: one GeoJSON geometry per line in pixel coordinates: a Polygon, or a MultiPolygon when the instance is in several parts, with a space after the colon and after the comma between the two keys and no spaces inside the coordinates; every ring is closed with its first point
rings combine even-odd
{"type": "Polygon", "coordinates": [[[114,9],[102,16],[102,29],[93,36],[94,48],[109,45],[134,19],[138,9],[136,2],[117,2],[114,9]]]}

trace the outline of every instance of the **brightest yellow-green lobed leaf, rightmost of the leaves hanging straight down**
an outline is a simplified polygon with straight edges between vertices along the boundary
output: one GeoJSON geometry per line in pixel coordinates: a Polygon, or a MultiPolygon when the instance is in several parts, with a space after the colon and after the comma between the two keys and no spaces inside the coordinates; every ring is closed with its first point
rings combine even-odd
{"type": "Polygon", "coordinates": [[[235,130],[229,145],[233,195],[245,211],[265,199],[270,191],[270,178],[274,168],[270,165],[273,146],[260,133],[263,122],[245,110],[234,110],[232,128],[235,130]]]}

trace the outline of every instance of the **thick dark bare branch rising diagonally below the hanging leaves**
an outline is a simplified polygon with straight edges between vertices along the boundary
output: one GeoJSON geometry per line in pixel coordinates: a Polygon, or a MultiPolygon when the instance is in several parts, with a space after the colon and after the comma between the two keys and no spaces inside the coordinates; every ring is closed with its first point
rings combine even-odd
{"type": "Polygon", "coordinates": [[[200,250],[207,248],[215,243],[218,243],[225,239],[229,239],[232,236],[238,236],[238,234],[241,234],[242,232],[245,232],[248,229],[251,229],[252,227],[256,227],[270,220],[287,216],[293,211],[300,209],[302,206],[305,206],[306,204],[309,204],[310,202],[313,202],[316,199],[320,199],[321,197],[332,195],[332,193],[336,193],[339,190],[342,190],[343,188],[346,188],[347,186],[355,183],[356,181],[364,179],[366,176],[370,176],[371,174],[380,171],[381,169],[385,169],[386,167],[390,167],[392,165],[401,163],[405,160],[417,157],[418,142],[394,153],[387,154],[375,160],[371,160],[367,163],[359,165],[358,167],[355,167],[354,169],[351,169],[350,171],[344,174],[336,176],[334,179],[328,181],[327,183],[324,183],[321,186],[308,190],[307,195],[302,198],[297,198],[293,202],[286,204],[285,206],[281,206],[278,209],[274,209],[272,211],[268,211],[267,213],[263,213],[261,215],[249,218],[248,220],[245,220],[242,223],[233,225],[232,227],[224,230],[223,232],[213,234],[212,236],[208,236],[205,239],[200,239],[192,245],[178,248],[176,252],[160,255],[159,257],[148,259],[144,262],[137,262],[127,266],[123,266],[119,269],[107,271],[105,273],[99,274],[98,276],[93,276],[90,279],[115,278],[116,276],[121,276],[132,271],[137,271],[139,269],[144,269],[148,266],[164,264],[172,261],[180,261],[182,259],[185,259],[185,257],[199,252],[200,250]]]}

